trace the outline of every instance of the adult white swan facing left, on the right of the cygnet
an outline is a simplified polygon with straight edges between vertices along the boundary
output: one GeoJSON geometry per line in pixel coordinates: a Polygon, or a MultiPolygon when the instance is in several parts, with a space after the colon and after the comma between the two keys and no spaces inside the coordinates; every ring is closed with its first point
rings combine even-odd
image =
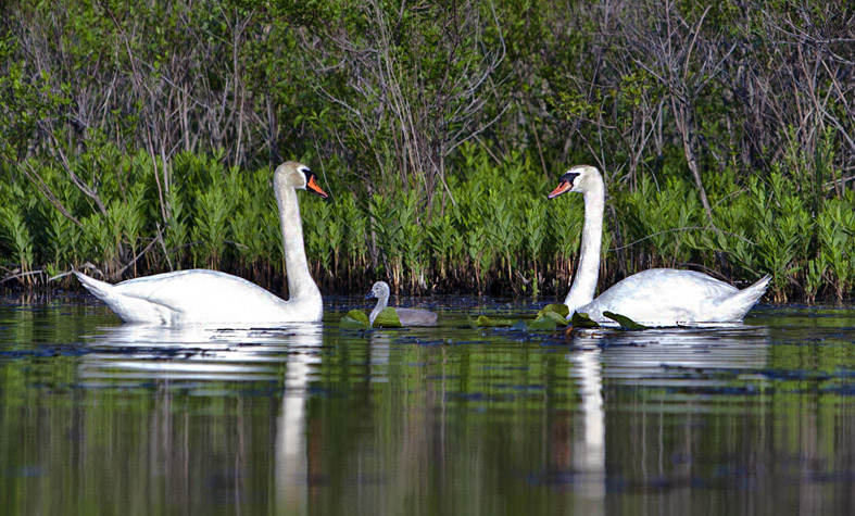
{"type": "Polygon", "coordinates": [[[574,166],[561,177],[549,199],[568,191],[584,196],[581,257],[570,292],[564,300],[570,311],[568,318],[579,312],[598,323],[614,324],[603,315],[603,312],[613,312],[646,326],[737,323],[766,292],[769,276],[739,290],[693,270],[652,268],[618,281],[594,299],[605,209],[605,187],[600,171],[589,165],[574,166]]]}

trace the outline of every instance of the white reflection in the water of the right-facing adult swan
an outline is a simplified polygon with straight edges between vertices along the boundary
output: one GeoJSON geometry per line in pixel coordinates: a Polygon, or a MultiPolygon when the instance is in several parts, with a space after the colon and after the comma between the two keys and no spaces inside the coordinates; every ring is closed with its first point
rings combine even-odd
{"type": "Polygon", "coordinates": [[[177,381],[196,393],[216,394],[212,382],[274,380],[281,378],[284,365],[273,450],[275,503],[279,512],[304,514],[310,478],[305,405],[322,343],[323,327],[315,324],[231,329],[123,325],[89,337],[88,345],[97,351],[81,357],[78,370],[87,387],[169,380],[173,388],[177,381]]]}

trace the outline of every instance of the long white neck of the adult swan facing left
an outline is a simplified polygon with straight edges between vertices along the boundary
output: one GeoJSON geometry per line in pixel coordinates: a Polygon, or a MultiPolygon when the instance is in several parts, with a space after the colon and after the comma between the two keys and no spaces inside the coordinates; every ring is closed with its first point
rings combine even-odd
{"type": "Polygon", "coordinates": [[[584,192],[584,226],[579,265],[570,285],[570,292],[564,304],[570,314],[580,306],[594,300],[596,280],[600,278],[600,248],[603,243],[603,211],[605,210],[605,187],[602,179],[591,181],[592,187],[584,192]]]}

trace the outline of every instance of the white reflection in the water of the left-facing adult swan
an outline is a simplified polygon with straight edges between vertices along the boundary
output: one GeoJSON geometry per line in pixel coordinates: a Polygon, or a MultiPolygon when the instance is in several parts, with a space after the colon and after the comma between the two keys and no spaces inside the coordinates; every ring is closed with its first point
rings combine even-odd
{"type": "MultiPolygon", "coordinates": [[[[574,336],[576,349],[567,354],[574,365],[581,398],[575,421],[574,470],[578,508],[582,514],[604,514],[606,480],[606,426],[603,400],[608,385],[662,386],[669,381],[691,385],[725,383],[727,379],[686,376],[686,369],[746,372],[766,366],[769,330],[762,326],[668,328],[645,331],[584,330],[574,336]]],[[[613,438],[613,439],[616,439],[613,438]]],[[[617,461],[616,461],[617,462],[617,461]]]]}

